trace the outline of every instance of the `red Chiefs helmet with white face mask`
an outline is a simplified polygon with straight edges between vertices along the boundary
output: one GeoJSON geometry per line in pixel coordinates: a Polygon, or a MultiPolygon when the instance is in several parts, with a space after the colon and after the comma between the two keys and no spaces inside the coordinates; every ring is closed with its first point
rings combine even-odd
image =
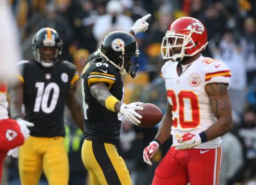
{"type": "Polygon", "coordinates": [[[199,20],[188,16],[175,20],[163,37],[161,52],[164,59],[179,61],[184,56],[194,56],[207,46],[207,30],[199,20]],[[172,43],[171,43],[172,39],[172,43]],[[183,44],[177,45],[177,39],[183,39],[183,44]],[[172,54],[172,48],[181,47],[181,52],[172,54]]]}

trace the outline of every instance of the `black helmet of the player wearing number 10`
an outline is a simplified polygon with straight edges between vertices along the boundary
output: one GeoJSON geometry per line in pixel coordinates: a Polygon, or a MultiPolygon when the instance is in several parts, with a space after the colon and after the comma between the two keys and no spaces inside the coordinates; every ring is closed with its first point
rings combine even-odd
{"type": "Polygon", "coordinates": [[[62,52],[63,41],[60,39],[59,33],[52,28],[42,28],[35,33],[32,39],[32,51],[37,62],[42,64],[44,68],[51,68],[56,65],[62,52]],[[55,48],[54,59],[46,62],[42,59],[40,48],[55,48]]]}

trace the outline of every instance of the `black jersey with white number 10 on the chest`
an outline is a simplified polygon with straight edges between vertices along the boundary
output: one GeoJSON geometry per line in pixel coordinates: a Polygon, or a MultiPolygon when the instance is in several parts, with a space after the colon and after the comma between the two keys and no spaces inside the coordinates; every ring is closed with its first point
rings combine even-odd
{"type": "Polygon", "coordinates": [[[76,66],[68,61],[53,68],[43,68],[34,61],[21,61],[19,66],[25,119],[35,124],[28,127],[31,136],[64,136],[64,105],[69,89],[79,79],[76,66]]]}

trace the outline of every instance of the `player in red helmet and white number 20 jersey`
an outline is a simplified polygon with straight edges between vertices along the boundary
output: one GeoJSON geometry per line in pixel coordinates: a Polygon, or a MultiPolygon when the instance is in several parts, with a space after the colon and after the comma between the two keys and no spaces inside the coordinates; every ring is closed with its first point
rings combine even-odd
{"type": "Polygon", "coordinates": [[[162,41],[167,109],[154,141],[143,151],[150,159],[170,136],[173,144],[155,171],[152,184],[218,184],[221,137],[232,128],[228,95],[231,73],[218,60],[204,57],[207,30],[197,19],[183,17],[162,41]]]}

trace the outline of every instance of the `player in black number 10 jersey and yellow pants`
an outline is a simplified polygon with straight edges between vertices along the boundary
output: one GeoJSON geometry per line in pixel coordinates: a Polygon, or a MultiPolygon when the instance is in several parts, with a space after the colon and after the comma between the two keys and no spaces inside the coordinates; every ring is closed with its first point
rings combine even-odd
{"type": "Polygon", "coordinates": [[[64,106],[67,104],[77,126],[83,129],[82,106],[75,91],[76,66],[60,61],[63,41],[52,28],[42,28],[32,39],[35,61],[20,61],[19,82],[11,91],[11,115],[29,127],[19,148],[22,185],[39,183],[42,170],[49,184],[68,184],[68,155],[64,146],[64,106]],[[24,104],[25,115],[22,115],[24,104]]]}

